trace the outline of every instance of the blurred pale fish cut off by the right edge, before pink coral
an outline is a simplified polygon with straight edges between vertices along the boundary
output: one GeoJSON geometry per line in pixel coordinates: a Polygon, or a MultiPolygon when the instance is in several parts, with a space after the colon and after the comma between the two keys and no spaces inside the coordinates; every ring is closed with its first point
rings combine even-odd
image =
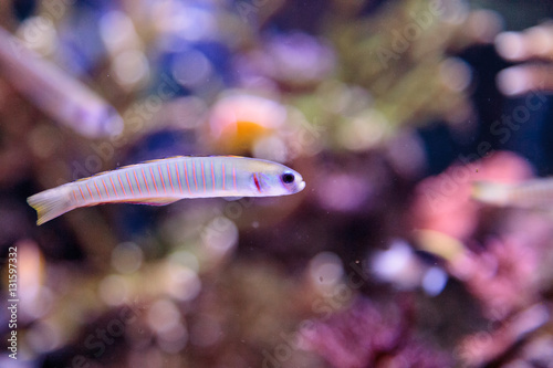
{"type": "Polygon", "coordinates": [[[476,181],[472,198],[498,207],[542,208],[553,204],[553,178],[519,183],[476,181]]]}

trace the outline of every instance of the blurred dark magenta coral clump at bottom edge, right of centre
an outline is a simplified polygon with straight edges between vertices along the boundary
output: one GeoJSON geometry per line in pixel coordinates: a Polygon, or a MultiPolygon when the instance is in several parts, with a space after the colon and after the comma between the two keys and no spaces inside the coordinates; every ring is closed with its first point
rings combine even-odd
{"type": "Polygon", "coordinates": [[[359,298],[352,307],[301,332],[302,345],[335,367],[448,367],[448,359],[406,334],[397,308],[359,298]]]}

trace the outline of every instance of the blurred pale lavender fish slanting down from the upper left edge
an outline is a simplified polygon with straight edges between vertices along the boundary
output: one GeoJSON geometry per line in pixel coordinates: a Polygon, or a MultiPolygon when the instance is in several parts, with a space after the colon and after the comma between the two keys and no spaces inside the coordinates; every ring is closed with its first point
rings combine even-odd
{"type": "Polygon", "coordinates": [[[52,119],[84,137],[113,137],[123,132],[123,118],[112,105],[2,28],[0,73],[52,119]]]}

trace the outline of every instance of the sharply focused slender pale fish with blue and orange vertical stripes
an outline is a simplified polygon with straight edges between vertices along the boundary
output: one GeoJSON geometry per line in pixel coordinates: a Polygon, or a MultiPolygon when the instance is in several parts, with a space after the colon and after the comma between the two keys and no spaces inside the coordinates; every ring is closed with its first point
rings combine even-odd
{"type": "Polygon", "coordinates": [[[274,197],[302,191],[291,168],[239,156],[178,156],[124,166],[44,190],[27,199],[41,225],[81,207],[164,206],[186,198],[274,197]]]}

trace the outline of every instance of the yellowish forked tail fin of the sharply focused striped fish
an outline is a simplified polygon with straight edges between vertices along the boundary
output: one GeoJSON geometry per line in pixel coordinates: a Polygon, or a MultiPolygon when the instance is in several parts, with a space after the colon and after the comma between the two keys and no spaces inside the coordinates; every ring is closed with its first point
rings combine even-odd
{"type": "Polygon", "coordinates": [[[39,217],[36,224],[39,225],[74,208],[67,186],[41,191],[40,193],[29,197],[27,202],[36,210],[39,217]]]}

